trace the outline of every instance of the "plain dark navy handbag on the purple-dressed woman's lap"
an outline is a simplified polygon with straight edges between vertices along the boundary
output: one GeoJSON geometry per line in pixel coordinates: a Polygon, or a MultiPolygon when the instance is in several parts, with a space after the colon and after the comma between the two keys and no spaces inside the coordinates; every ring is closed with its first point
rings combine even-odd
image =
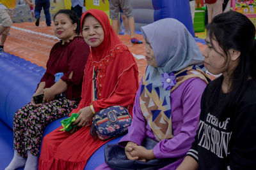
{"type": "MultiPolygon", "coordinates": [[[[145,138],[141,146],[144,146],[148,150],[154,148],[157,145],[157,141],[151,138],[145,138]]],[[[177,158],[168,159],[151,159],[147,162],[141,162],[140,160],[129,160],[125,155],[124,148],[118,146],[118,144],[108,144],[104,150],[105,162],[109,167],[118,170],[129,170],[129,169],[159,169],[167,166],[172,162],[175,162],[177,158]]]]}

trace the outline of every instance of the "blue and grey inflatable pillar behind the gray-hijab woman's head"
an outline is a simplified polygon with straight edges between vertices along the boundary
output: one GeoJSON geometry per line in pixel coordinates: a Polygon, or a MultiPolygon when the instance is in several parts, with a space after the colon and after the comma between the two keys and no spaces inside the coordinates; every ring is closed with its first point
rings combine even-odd
{"type": "Polygon", "coordinates": [[[195,37],[188,0],[131,0],[135,29],[163,18],[175,18],[182,22],[195,37]]]}

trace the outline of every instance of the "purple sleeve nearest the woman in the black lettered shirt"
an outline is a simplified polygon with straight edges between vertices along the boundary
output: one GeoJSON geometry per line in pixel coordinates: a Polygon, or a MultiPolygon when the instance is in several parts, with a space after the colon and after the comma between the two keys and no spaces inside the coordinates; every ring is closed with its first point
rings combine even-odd
{"type": "Polygon", "coordinates": [[[200,99],[206,83],[199,78],[191,78],[182,84],[181,104],[183,111],[179,113],[183,117],[182,127],[179,134],[174,134],[172,139],[163,139],[153,148],[157,159],[185,155],[195,137],[200,115],[200,99]]]}

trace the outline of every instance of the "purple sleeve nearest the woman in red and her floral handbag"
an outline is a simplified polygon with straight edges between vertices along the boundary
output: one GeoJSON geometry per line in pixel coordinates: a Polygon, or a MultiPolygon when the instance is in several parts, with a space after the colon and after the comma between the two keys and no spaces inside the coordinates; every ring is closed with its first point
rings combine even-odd
{"type": "Polygon", "coordinates": [[[132,124],[128,128],[128,133],[120,140],[118,143],[121,147],[125,147],[128,141],[132,141],[141,145],[143,139],[146,135],[146,120],[142,115],[140,109],[140,90],[141,90],[141,82],[140,87],[136,93],[134,106],[132,110],[132,124]]]}

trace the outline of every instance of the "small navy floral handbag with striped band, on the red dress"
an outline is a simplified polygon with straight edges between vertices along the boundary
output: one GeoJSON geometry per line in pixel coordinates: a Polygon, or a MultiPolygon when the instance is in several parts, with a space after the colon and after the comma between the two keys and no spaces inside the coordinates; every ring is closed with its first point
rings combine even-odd
{"type": "MultiPolygon", "coordinates": [[[[93,101],[97,100],[95,70],[93,67],[93,101]]],[[[123,106],[111,106],[100,110],[92,121],[90,135],[93,139],[108,140],[121,136],[128,131],[132,118],[129,111],[123,106]],[[97,136],[95,135],[97,134],[97,136]]]]}

